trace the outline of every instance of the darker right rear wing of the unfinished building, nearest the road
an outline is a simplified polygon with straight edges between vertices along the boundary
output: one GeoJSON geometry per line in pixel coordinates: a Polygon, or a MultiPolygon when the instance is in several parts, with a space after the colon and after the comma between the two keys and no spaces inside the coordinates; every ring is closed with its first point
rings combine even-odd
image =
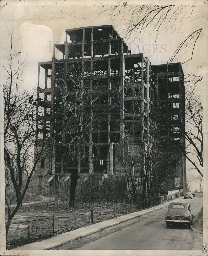
{"type": "Polygon", "coordinates": [[[162,154],[170,152],[176,160],[175,187],[187,191],[185,151],[185,87],[181,63],[152,66],[158,87],[158,106],[161,123],[158,131],[158,149],[162,154]]]}

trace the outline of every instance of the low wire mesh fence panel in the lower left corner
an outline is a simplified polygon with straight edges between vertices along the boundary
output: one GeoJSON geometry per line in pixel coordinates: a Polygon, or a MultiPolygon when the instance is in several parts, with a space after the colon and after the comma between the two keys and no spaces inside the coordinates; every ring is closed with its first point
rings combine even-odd
{"type": "MultiPolygon", "coordinates": [[[[6,228],[7,228],[6,224],[6,228]]],[[[54,215],[51,218],[11,223],[6,238],[7,248],[54,236],[54,215]]]]}

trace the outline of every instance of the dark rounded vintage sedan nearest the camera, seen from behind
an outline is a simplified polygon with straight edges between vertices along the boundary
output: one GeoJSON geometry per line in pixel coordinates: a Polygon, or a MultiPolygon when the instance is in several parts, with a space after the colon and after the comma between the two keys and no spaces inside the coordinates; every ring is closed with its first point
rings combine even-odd
{"type": "Polygon", "coordinates": [[[194,214],[191,212],[191,207],[185,202],[171,202],[168,206],[168,212],[165,215],[166,226],[170,224],[187,224],[190,228],[194,219],[194,214]]]}

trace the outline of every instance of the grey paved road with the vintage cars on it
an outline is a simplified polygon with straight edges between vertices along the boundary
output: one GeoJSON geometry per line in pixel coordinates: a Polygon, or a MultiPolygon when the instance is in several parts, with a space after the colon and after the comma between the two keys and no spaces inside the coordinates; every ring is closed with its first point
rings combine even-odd
{"type": "MultiPolygon", "coordinates": [[[[202,207],[202,193],[189,202],[197,216],[202,207]]],[[[107,228],[53,248],[53,250],[202,250],[203,236],[186,226],[166,227],[165,209],[107,228]]]]}

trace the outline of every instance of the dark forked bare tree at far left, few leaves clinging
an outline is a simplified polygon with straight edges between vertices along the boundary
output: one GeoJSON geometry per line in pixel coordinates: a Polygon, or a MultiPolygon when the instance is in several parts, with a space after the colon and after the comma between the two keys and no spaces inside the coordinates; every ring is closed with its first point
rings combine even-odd
{"type": "MultiPolygon", "coordinates": [[[[9,31],[10,33],[10,31],[9,31]]],[[[20,52],[14,51],[13,33],[10,33],[8,67],[4,66],[4,154],[5,154],[5,201],[8,209],[6,237],[9,225],[24,199],[33,173],[40,162],[41,155],[47,150],[48,142],[35,146],[37,131],[36,105],[40,99],[34,98],[34,92],[21,88],[21,74],[25,59],[21,61],[20,52]],[[16,65],[17,63],[17,65],[16,65]],[[11,180],[11,182],[10,182],[11,180]],[[16,207],[11,210],[11,194],[8,187],[13,187],[16,194],[16,207]]],[[[42,120],[42,130],[44,130],[42,120]]]]}

